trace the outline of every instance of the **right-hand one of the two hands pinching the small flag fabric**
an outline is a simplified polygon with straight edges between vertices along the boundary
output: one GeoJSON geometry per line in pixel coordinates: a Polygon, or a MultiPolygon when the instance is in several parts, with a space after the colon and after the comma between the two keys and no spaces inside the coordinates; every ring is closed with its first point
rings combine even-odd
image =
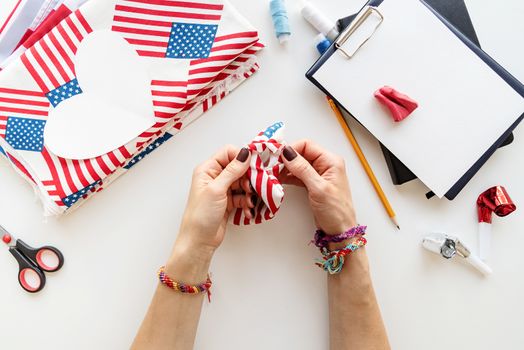
{"type": "Polygon", "coordinates": [[[306,187],[316,225],[328,235],[336,235],[356,226],[355,210],[342,157],[305,140],[283,151],[289,173],[280,180],[306,187]]]}

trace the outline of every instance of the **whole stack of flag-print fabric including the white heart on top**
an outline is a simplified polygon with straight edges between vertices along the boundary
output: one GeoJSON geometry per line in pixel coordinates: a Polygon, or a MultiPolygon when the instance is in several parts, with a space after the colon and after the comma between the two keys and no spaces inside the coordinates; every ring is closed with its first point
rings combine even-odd
{"type": "Polygon", "coordinates": [[[262,48],[227,0],[88,0],[0,72],[0,153],[46,215],[66,213],[255,73],[262,48]]]}

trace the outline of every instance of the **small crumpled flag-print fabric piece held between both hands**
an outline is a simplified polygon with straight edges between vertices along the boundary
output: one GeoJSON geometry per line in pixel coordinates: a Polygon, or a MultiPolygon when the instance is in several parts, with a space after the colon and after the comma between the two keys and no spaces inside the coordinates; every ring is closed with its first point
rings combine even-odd
{"type": "Polygon", "coordinates": [[[275,123],[260,132],[248,145],[251,162],[247,177],[257,193],[255,215],[251,219],[245,216],[242,208],[232,216],[235,225],[260,224],[272,219],[284,199],[284,187],[278,181],[278,175],[284,168],[282,161],[284,124],[275,123]]]}

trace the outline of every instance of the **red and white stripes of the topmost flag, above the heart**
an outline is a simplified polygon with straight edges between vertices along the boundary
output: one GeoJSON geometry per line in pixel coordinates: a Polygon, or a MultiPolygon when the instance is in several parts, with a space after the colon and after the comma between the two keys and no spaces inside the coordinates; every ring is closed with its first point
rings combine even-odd
{"type": "Polygon", "coordinates": [[[219,1],[122,0],[115,6],[112,31],[134,46],[140,56],[166,57],[174,22],[218,24],[219,1]]]}

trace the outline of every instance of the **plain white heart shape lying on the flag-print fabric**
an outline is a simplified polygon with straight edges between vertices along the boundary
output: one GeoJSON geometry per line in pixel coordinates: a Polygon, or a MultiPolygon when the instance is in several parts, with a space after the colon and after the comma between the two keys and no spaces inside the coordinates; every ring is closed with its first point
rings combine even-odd
{"type": "Polygon", "coordinates": [[[106,154],[155,123],[151,78],[133,48],[119,35],[95,31],[75,56],[81,94],[49,113],[46,146],[68,159],[106,154]]]}

